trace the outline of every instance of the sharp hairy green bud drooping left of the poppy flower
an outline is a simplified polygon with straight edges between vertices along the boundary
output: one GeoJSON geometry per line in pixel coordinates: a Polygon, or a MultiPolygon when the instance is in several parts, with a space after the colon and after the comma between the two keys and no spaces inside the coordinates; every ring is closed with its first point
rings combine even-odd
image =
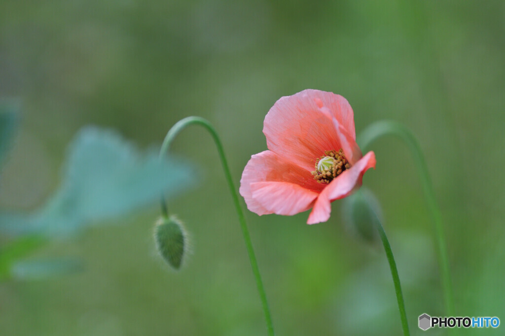
{"type": "Polygon", "coordinates": [[[156,249],[175,270],[181,267],[187,249],[187,235],[182,222],[175,216],[161,217],[155,226],[156,249]]]}

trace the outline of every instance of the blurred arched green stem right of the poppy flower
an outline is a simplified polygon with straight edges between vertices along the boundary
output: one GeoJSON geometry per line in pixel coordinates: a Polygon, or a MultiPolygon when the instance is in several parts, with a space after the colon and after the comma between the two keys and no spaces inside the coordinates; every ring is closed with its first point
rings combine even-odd
{"type": "Polygon", "coordinates": [[[419,143],[413,133],[407,127],[395,121],[378,121],[368,126],[360,136],[361,148],[365,151],[365,148],[367,148],[372,142],[386,135],[393,135],[405,141],[414,156],[415,164],[419,170],[421,184],[423,185],[424,196],[435,226],[438,265],[440,267],[440,274],[442,278],[446,315],[454,316],[452,287],[447,251],[445,249],[446,243],[442,225],[442,216],[437,205],[430,175],[428,173],[428,166],[426,165],[423,152],[421,151],[421,147],[419,146],[419,143]]]}

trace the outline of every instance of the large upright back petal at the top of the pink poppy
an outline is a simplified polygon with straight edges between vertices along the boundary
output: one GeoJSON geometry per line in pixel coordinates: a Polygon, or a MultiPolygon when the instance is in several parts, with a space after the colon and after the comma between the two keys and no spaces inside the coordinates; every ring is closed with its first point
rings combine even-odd
{"type": "Polygon", "coordinates": [[[282,97],[265,117],[263,133],[269,150],[313,170],[325,151],[342,148],[333,119],[356,138],[354,113],[345,98],[331,92],[304,90],[282,97]]]}

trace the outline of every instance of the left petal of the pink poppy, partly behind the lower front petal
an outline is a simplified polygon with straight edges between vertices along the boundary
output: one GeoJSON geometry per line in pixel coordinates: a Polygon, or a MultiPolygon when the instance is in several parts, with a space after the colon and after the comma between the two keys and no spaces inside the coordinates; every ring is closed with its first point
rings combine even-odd
{"type": "Polygon", "coordinates": [[[272,214],[274,211],[268,210],[253,197],[251,183],[267,181],[293,183],[316,193],[324,188],[324,185],[314,180],[310,171],[285,160],[274,152],[264,151],[255,154],[251,156],[244,168],[239,192],[244,197],[247,209],[260,216],[272,214]]]}

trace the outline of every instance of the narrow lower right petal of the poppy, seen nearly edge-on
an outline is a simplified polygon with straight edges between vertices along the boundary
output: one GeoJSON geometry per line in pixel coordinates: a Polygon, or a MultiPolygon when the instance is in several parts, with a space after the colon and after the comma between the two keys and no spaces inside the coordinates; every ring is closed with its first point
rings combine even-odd
{"type": "Polygon", "coordinates": [[[354,188],[360,187],[363,174],[369,168],[375,168],[374,152],[368,152],[354,166],[344,171],[324,188],[314,204],[307,224],[326,222],[330,218],[330,203],[347,196],[354,188]]]}

